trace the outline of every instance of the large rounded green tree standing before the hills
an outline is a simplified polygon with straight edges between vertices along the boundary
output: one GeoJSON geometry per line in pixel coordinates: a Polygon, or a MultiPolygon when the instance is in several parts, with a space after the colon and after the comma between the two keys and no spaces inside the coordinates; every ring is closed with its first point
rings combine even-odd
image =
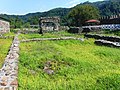
{"type": "Polygon", "coordinates": [[[72,26],[84,25],[89,19],[98,19],[100,17],[99,10],[91,5],[79,5],[73,8],[69,14],[69,22],[72,26]]]}

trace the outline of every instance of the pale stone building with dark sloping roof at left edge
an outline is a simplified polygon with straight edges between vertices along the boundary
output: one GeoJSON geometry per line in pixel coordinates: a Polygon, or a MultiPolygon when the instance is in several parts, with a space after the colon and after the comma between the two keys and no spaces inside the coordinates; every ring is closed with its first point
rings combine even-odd
{"type": "Polygon", "coordinates": [[[0,33],[10,32],[10,23],[8,20],[0,17],[0,33]]]}

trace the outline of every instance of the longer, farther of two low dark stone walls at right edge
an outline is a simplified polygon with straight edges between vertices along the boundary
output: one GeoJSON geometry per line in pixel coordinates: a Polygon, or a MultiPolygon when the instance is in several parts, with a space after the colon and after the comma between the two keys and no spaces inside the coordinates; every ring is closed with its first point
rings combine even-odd
{"type": "Polygon", "coordinates": [[[120,42],[120,37],[117,37],[117,36],[103,36],[98,34],[85,34],[84,36],[87,38],[95,38],[95,39],[103,39],[103,40],[112,41],[112,42],[120,42]]]}

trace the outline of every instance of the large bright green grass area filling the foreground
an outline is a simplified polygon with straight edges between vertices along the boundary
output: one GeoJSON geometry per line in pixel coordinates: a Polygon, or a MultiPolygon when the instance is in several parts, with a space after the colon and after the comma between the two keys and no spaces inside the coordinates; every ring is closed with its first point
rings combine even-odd
{"type": "Polygon", "coordinates": [[[120,90],[120,49],[93,39],[21,43],[18,81],[19,90],[120,90]]]}

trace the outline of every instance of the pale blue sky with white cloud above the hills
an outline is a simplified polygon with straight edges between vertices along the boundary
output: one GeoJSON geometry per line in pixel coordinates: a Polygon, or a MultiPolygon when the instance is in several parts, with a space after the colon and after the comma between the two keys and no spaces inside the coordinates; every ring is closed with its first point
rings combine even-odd
{"type": "Polygon", "coordinates": [[[58,7],[69,8],[85,1],[95,2],[103,0],[1,0],[0,14],[24,15],[48,11],[58,7]]]}

